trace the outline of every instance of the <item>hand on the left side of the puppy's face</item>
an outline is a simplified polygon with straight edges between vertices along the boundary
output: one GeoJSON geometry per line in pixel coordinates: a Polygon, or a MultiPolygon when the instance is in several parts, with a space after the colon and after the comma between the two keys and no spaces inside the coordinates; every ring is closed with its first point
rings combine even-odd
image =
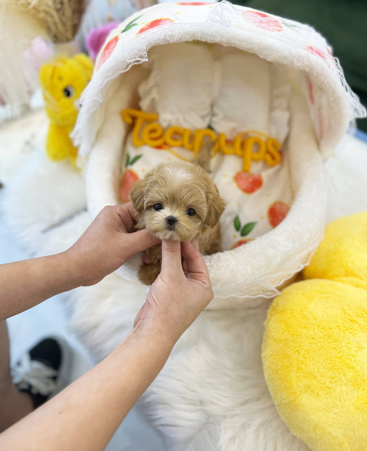
{"type": "Polygon", "coordinates": [[[134,229],[135,214],[131,203],[103,208],[66,251],[72,267],[81,274],[81,285],[96,284],[132,255],[160,242],[149,231],[134,229]]]}

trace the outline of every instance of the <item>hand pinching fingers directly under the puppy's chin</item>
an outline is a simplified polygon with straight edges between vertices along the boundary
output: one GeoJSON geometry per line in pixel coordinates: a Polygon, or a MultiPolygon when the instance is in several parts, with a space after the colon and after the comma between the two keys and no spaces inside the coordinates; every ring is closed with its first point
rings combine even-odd
{"type": "Polygon", "coordinates": [[[207,266],[191,242],[162,242],[162,269],[135,319],[173,346],[213,299],[207,266]]]}

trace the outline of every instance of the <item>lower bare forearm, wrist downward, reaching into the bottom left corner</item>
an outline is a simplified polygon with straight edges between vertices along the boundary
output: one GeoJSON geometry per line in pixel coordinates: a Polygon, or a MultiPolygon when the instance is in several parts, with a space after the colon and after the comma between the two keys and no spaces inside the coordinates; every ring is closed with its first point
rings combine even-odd
{"type": "Polygon", "coordinates": [[[134,331],[100,364],[0,436],[14,451],[103,451],[165,364],[171,344],[134,331]]]}

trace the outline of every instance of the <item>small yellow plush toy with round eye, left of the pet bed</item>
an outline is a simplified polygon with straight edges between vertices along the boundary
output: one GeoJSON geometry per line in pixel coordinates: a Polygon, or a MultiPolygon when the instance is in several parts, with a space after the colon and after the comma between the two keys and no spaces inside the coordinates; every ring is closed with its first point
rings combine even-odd
{"type": "Polygon", "coordinates": [[[79,97],[90,81],[93,62],[85,54],[59,57],[41,67],[39,80],[45,111],[50,118],[46,154],[51,160],[68,158],[76,164],[77,149],[70,132],[78,116],[79,97]]]}

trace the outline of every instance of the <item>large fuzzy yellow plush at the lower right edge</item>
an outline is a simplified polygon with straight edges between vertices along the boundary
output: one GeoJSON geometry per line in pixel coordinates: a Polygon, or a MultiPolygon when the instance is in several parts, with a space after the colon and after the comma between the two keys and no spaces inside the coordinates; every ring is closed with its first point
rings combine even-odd
{"type": "Polygon", "coordinates": [[[269,309],[266,383],[311,450],[366,451],[367,213],[328,225],[304,278],[269,309]]]}

